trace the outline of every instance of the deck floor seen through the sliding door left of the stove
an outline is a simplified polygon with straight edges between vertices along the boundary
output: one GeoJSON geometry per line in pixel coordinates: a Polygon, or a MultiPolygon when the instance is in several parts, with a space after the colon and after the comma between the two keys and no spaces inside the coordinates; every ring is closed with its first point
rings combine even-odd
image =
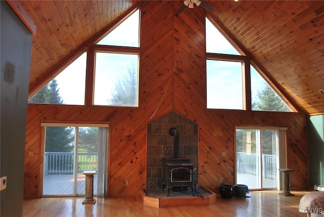
{"type": "MultiPolygon", "coordinates": [[[[53,174],[44,176],[43,195],[74,195],[73,193],[74,175],[73,174],[53,174]]],[[[76,194],[85,195],[86,176],[77,175],[76,194]]],[[[97,195],[97,175],[94,175],[94,195],[97,195]]]]}

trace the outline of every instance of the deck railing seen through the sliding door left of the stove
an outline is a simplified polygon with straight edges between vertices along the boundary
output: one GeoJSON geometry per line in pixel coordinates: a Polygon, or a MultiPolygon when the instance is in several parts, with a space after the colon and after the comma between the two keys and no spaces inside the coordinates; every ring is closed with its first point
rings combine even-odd
{"type": "MultiPolygon", "coordinates": [[[[98,170],[97,153],[78,153],[77,173],[98,170]]],[[[74,153],[45,152],[44,174],[73,174],[74,153]]]]}

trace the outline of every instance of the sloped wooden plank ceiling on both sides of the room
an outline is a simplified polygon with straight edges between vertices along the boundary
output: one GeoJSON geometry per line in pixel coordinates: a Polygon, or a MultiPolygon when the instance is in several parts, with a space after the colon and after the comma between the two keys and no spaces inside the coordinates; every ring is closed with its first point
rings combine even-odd
{"type": "MultiPolygon", "coordinates": [[[[324,89],[324,1],[207,2],[215,8],[210,15],[305,113],[324,114],[324,95],[319,93],[324,89]]],[[[30,94],[53,77],[72,54],[142,1],[19,3],[37,27],[32,41],[30,94]]],[[[169,4],[176,10],[182,2],[169,4]]]]}

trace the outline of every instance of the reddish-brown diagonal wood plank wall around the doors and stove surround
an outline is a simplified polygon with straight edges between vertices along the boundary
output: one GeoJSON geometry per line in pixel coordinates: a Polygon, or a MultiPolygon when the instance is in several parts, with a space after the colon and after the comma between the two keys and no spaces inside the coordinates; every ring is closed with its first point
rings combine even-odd
{"type": "Polygon", "coordinates": [[[24,197],[39,196],[42,121],[110,123],[109,196],[134,196],[146,188],[147,123],[171,111],[198,124],[200,186],[217,192],[219,178],[234,184],[234,127],[260,125],[288,127],[287,162],[288,168],[295,169],[291,188],[308,188],[307,117],[298,113],[207,110],[205,11],[192,10],[187,19],[186,11],[174,16],[181,3],[153,2],[141,3],[138,108],[28,105],[24,197]],[[30,151],[33,156],[28,156],[30,151]],[[222,152],[227,155],[222,156],[222,152]],[[125,180],[129,180],[128,186],[125,180]]]}

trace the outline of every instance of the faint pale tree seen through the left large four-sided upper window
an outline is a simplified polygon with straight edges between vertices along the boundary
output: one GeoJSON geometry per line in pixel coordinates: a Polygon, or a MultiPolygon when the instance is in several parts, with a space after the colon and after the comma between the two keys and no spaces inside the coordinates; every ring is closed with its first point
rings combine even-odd
{"type": "Polygon", "coordinates": [[[115,85],[111,105],[136,105],[137,101],[137,71],[135,66],[128,69],[128,74],[115,85]]]}

